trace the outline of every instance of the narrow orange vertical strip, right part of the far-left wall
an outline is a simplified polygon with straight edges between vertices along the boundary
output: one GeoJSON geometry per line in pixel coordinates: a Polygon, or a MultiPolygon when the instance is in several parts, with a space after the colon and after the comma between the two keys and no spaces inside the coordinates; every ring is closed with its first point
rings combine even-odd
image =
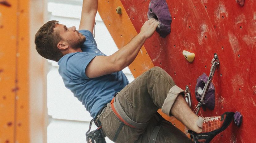
{"type": "Polygon", "coordinates": [[[29,142],[29,0],[19,0],[17,9],[16,141],[29,142]]]}

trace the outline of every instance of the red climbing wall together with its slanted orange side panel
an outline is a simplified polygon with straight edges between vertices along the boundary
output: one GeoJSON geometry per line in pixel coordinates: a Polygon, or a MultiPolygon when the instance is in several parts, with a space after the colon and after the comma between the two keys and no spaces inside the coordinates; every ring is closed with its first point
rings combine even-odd
{"type": "MultiPolygon", "coordinates": [[[[238,0],[239,2],[241,0],[238,0]]],[[[98,11],[118,48],[128,43],[148,19],[149,0],[99,0],[98,11]],[[122,8],[117,14],[116,8],[122,8]]],[[[215,86],[215,108],[199,112],[204,117],[226,111],[239,111],[243,122],[234,122],[212,142],[254,143],[256,126],[256,1],[245,0],[241,6],[236,0],[167,0],[172,17],[171,34],[161,38],[155,33],[129,66],[134,77],[152,66],[168,72],[181,88],[189,85],[195,99],[197,78],[209,75],[214,53],[220,65],[212,83],[215,86]],[[182,55],[186,50],[195,54],[192,63],[182,55]]],[[[181,123],[168,118],[186,133],[181,123]]]]}

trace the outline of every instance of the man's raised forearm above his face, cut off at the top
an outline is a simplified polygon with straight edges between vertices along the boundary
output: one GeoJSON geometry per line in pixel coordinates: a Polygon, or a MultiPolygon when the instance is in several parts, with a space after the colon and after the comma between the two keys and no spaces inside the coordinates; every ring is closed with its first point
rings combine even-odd
{"type": "Polygon", "coordinates": [[[92,32],[97,10],[98,0],[83,0],[79,30],[89,30],[92,32]]]}

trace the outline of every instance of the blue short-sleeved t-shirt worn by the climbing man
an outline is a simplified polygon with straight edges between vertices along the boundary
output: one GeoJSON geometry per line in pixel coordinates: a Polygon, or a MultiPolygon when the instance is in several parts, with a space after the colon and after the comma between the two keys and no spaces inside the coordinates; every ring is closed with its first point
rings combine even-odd
{"type": "Polygon", "coordinates": [[[58,62],[59,74],[62,76],[66,88],[85,106],[92,117],[96,117],[100,109],[109,103],[113,95],[123,89],[128,79],[122,71],[96,78],[88,78],[85,69],[89,62],[103,54],[98,48],[92,33],[79,30],[86,37],[81,46],[83,52],[64,55],[58,62]]]}

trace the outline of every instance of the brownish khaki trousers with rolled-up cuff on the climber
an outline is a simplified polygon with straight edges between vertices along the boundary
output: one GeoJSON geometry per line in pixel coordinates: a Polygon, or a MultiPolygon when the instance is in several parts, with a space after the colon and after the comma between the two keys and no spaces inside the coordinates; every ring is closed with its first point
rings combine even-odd
{"type": "MultiPolygon", "coordinates": [[[[119,99],[124,112],[133,121],[148,122],[148,124],[142,129],[124,125],[116,142],[148,143],[151,133],[158,123],[158,118],[155,116],[157,110],[162,108],[165,112],[170,112],[172,104],[179,94],[175,93],[175,89],[173,93],[170,93],[169,90],[174,86],[175,83],[168,73],[159,67],[154,67],[122,89],[116,98],[119,99]]],[[[109,104],[101,113],[99,120],[105,136],[113,140],[121,121],[115,116],[109,104]]],[[[162,121],[156,143],[193,143],[193,141],[168,121],[162,121]]]]}

